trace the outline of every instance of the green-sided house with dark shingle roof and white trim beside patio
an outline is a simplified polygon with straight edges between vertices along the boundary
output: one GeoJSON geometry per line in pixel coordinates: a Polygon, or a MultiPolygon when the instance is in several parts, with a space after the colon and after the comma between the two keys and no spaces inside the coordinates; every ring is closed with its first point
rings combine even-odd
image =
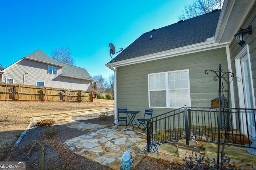
{"type": "MultiPolygon", "coordinates": [[[[255,16],[255,0],[224,0],[221,10],[149,28],[106,64],[115,75],[115,121],[118,107],[140,111],[135,119],[146,108],[153,109],[154,117],[185,105],[211,107],[219,79],[205,70],[217,71],[219,64],[223,72],[234,74],[221,79],[228,107],[255,108],[255,16]],[[241,47],[234,35],[249,25],[252,34],[241,47]]],[[[233,117],[233,127],[237,120],[233,117]]]]}

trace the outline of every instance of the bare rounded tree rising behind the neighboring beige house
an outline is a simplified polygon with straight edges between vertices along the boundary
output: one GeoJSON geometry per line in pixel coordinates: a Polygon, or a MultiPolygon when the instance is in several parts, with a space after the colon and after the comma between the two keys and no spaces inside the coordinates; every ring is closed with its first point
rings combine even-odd
{"type": "Polygon", "coordinates": [[[52,51],[52,58],[60,63],[75,65],[73,57],[71,57],[71,50],[69,47],[60,47],[52,51]]]}

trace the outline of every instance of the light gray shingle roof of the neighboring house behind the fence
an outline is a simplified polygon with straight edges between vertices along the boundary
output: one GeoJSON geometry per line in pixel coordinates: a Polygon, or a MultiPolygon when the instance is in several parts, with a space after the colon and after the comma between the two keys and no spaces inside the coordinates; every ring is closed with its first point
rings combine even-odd
{"type": "Polygon", "coordinates": [[[52,64],[52,65],[56,65],[56,66],[61,66],[62,67],[62,70],[61,70],[62,76],[92,80],[92,77],[90,76],[90,74],[87,72],[87,70],[85,68],[80,68],[77,66],[72,66],[69,64],[64,64],[64,63],[55,61],[54,59],[52,59],[52,57],[46,55],[41,50],[37,50],[34,53],[31,53],[30,55],[27,55],[24,58],[39,61],[42,63],[48,63],[48,64],[52,64]]]}

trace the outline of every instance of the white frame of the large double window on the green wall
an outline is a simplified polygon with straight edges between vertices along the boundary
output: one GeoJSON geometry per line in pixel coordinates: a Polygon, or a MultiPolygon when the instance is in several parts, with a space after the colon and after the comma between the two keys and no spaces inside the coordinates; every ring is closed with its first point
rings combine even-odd
{"type": "Polygon", "coordinates": [[[175,71],[168,71],[168,72],[157,72],[157,73],[152,73],[152,74],[148,74],[148,106],[149,107],[153,107],[153,108],[180,108],[183,106],[178,106],[178,107],[173,107],[170,106],[170,90],[169,89],[169,80],[168,80],[168,74],[169,73],[178,73],[178,72],[187,72],[187,78],[188,78],[188,88],[174,88],[174,90],[188,90],[188,103],[186,104],[186,106],[191,106],[191,98],[190,98],[190,78],[189,78],[189,69],[186,70],[175,70],[175,71]],[[156,75],[156,74],[164,74],[165,76],[165,87],[162,86],[159,89],[150,89],[150,76],[152,75],[156,75]],[[166,107],[161,107],[161,106],[150,106],[150,92],[154,92],[154,91],[165,91],[165,95],[166,95],[166,107]]]}

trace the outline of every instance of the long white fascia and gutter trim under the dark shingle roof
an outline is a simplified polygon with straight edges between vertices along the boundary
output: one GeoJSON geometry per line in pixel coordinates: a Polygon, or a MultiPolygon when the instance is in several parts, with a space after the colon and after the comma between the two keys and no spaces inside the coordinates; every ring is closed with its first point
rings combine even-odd
{"type": "Polygon", "coordinates": [[[177,49],[163,51],[160,53],[154,53],[154,54],[145,55],[142,57],[137,57],[136,59],[128,59],[125,61],[118,61],[115,63],[108,63],[105,65],[107,67],[126,66],[126,65],[130,65],[130,64],[143,63],[146,61],[154,61],[154,60],[158,60],[158,59],[175,57],[178,55],[185,55],[185,54],[196,53],[196,52],[200,52],[200,51],[222,48],[222,47],[226,47],[226,45],[228,45],[228,44],[230,44],[230,42],[219,44],[219,43],[215,43],[214,41],[207,41],[204,43],[198,43],[198,44],[194,44],[194,45],[190,45],[190,46],[186,46],[186,47],[180,47],[177,49]]]}

